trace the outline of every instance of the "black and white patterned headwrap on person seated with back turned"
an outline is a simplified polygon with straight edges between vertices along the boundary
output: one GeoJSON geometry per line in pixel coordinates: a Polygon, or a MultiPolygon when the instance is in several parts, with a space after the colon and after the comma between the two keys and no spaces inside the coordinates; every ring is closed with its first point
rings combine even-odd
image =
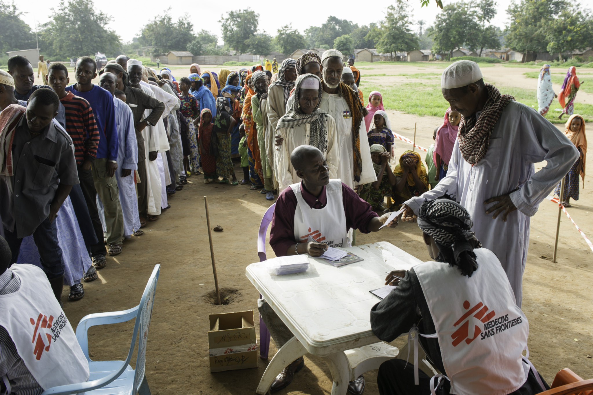
{"type": "Polygon", "coordinates": [[[482,247],[482,243],[471,231],[474,223],[464,206],[448,196],[426,200],[418,209],[417,217],[418,227],[432,236],[441,251],[439,262],[448,262],[450,265],[460,263],[460,254],[464,251],[475,259],[473,250],[482,247]]]}

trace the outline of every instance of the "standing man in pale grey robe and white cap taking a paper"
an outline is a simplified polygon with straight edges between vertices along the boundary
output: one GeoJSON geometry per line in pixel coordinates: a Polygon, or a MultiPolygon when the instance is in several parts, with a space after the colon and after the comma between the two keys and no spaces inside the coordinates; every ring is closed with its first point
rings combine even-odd
{"type": "Polygon", "coordinates": [[[451,110],[464,117],[447,177],[407,200],[402,219],[412,221],[426,199],[447,193],[458,200],[473,219],[471,230],[500,260],[521,307],[530,217],[579,153],[537,111],[484,84],[475,62],[452,63],[442,74],[441,87],[451,110]],[[534,163],[544,160],[546,167],[535,173],[534,163]]]}

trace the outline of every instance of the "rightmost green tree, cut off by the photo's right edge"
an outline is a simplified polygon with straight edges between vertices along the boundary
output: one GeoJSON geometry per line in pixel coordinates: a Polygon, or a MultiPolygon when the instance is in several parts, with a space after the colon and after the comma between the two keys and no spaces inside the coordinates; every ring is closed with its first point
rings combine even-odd
{"type": "Polygon", "coordinates": [[[547,26],[546,39],[549,41],[547,51],[558,53],[560,59],[563,52],[591,46],[593,31],[590,15],[576,7],[565,9],[547,26]]]}

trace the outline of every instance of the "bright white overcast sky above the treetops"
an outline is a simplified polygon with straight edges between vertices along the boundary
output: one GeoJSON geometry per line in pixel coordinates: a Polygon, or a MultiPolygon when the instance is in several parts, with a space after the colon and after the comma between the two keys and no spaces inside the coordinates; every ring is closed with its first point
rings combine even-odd
{"type": "MultiPolygon", "coordinates": [[[[388,5],[394,4],[394,1],[375,0],[372,3],[368,3],[369,5],[372,4],[372,7],[364,7],[363,4],[367,1],[347,1],[346,3],[315,1],[316,9],[311,7],[295,7],[296,2],[293,1],[285,3],[255,2],[251,6],[251,9],[260,15],[259,30],[265,30],[270,35],[275,36],[278,28],[285,24],[292,23],[292,27],[304,33],[304,30],[309,26],[321,26],[330,15],[353,21],[353,23],[358,23],[359,26],[378,22],[384,18],[385,9],[388,5]],[[281,7],[280,4],[288,4],[288,7],[281,7]],[[352,8],[344,7],[347,4],[352,4],[352,8]],[[280,19],[279,17],[282,18],[280,19]]],[[[424,20],[428,23],[428,26],[434,23],[436,15],[441,11],[440,8],[436,7],[433,0],[431,0],[428,8],[420,7],[419,0],[407,1],[412,11],[412,20],[415,22],[424,20]]],[[[443,4],[445,5],[450,2],[452,1],[443,0],[443,4]]],[[[17,4],[17,7],[21,11],[27,12],[23,15],[23,19],[33,27],[34,21],[37,21],[38,24],[49,21],[49,15],[51,14],[49,8],[57,8],[59,6],[59,0],[28,0],[26,7],[24,7],[25,4],[20,0],[17,0],[15,4],[17,4]]],[[[161,12],[163,14],[165,12],[164,7],[166,7],[164,4],[168,4],[168,2],[155,0],[142,2],[124,1],[117,2],[117,7],[119,8],[116,8],[113,2],[95,0],[95,7],[98,10],[113,17],[113,21],[109,24],[108,28],[115,30],[124,42],[137,37],[142,26],[157,16],[158,10],[163,9],[161,12]],[[114,12],[115,9],[117,9],[117,12],[114,12]],[[138,14],[130,18],[130,15],[134,15],[135,12],[138,12],[138,14]]],[[[226,14],[227,11],[231,11],[231,8],[220,7],[218,2],[200,2],[198,6],[195,2],[186,0],[184,2],[172,1],[170,4],[171,16],[174,20],[177,20],[178,17],[187,12],[192,18],[196,32],[202,29],[209,30],[219,37],[219,43],[222,44],[222,39],[220,38],[221,28],[218,20],[220,20],[221,14],[226,14]],[[196,7],[186,7],[186,5],[196,5],[196,7]]],[[[506,9],[509,4],[511,4],[511,0],[498,0],[498,14],[493,20],[493,24],[500,28],[503,28],[508,21],[506,9]]],[[[235,8],[235,11],[238,9],[235,8]]],[[[415,26],[415,29],[417,29],[417,26],[415,26]]]]}

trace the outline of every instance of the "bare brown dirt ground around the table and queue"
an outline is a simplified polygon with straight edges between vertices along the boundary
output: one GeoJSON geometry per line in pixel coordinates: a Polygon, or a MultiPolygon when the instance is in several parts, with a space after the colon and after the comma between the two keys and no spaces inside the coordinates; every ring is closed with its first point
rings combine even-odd
{"type": "MultiPolygon", "coordinates": [[[[208,66],[202,66],[202,70],[208,66]]],[[[388,74],[422,72],[407,65],[378,65],[388,74]]],[[[212,66],[211,70],[218,71],[212,66]]],[[[186,75],[186,66],[174,67],[176,77],[186,75]]],[[[533,69],[528,69],[533,71],[533,69]]],[[[425,68],[426,72],[439,72],[425,68]]],[[[371,71],[369,71],[370,73],[371,71]]],[[[372,71],[375,72],[375,71],[372,71]]],[[[384,71],[381,71],[384,72],[384,71]]],[[[496,65],[483,68],[485,75],[501,83],[533,89],[534,79],[525,78],[522,68],[496,65]]],[[[363,78],[365,71],[363,73],[363,78]]],[[[556,87],[554,87],[556,88],[556,87]]],[[[579,98],[587,101],[579,92],[579,98]]],[[[593,95],[592,95],[593,96],[593,95]]],[[[394,131],[413,138],[428,148],[432,130],[442,122],[440,117],[417,117],[388,111],[394,131]],[[407,126],[406,126],[407,125],[407,126]]],[[[560,125],[558,125],[560,126],[560,125]]],[[[593,124],[586,127],[592,130],[593,124]]],[[[397,152],[410,148],[396,140],[397,152]]],[[[537,164],[541,168],[544,164],[537,164]]],[[[235,173],[243,178],[240,167],[235,173]],[[240,176],[241,175],[241,176],[240,176]]],[[[248,186],[204,184],[192,176],[183,190],[170,198],[171,209],[156,222],[149,222],[141,237],[126,241],[123,253],[108,257],[108,265],[99,271],[100,278],[85,283],[82,300],[67,301],[63,291],[64,310],[73,327],[87,314],[125,310],[135,306],[142,295],[152,268],[161,265],[154,310],[146,349],[146,377],[153,394],[254,394],[267,361],[257,369],[211,373],[208,365],[208,314],[254,310],[257,317],[258,292],[246,278],[247,265],[257,257],[257,229],[266,209],[272,204],[264,195],[248,186]],[[222,232],[212,232],[219,285],[238,291],[229,305],[212,305],[205,297],[214,289],[209,253],[203,196],[208,196],[211,227],[221,225],[222,232]]],[[[589,187],[581,189],[581,199],[568,209],[576,224],[593,238],[593,197],[589,187]]],[[[591,279],[593,254],[574,225],[564,214],[560,221],[557,263],[551,262],[556,234],[557,206],[544,200],[531,219],[530,250],[523,281],[523,310],[530,323],[530,359],[551,383],[559,369],[570,368],[583,378],[593,371],[593,304],[591,279]]],[[[500,219],[498,219],[500,220],[500,219]]],[[[428,260],[429,256],[416,224],[400,224],[395,229],[357,234],[357,244],[389,241],[401,249],[428,260]]],[[[268,257],[273,256],[269,245],[268,257]]],[[[257,320],[256,318],[256,321],[257,320]]],[[[110,326],[92,327],[90,355],[95,360],[123,360],[129,349],[133,321],[110,326]]],[[[259,328],[257,329],[259,333],[259,328]]],[[[259,339],[258,339],[259,340],[259,339]]],[[[396,346],[402,340],[393,342],[396,346]]],[[[276,352],[270,344],[270,359],[276,352]]],[[[134,366],[136,358],[132,359],[134,366]]],[[[366,395],[378,394],[376,372],[366,375],[366,395]]],[[[305,368],[297,374],[284,394],[321,395],[331,392],[331,375],[318,357],[305,356],[305,368]]]]}

